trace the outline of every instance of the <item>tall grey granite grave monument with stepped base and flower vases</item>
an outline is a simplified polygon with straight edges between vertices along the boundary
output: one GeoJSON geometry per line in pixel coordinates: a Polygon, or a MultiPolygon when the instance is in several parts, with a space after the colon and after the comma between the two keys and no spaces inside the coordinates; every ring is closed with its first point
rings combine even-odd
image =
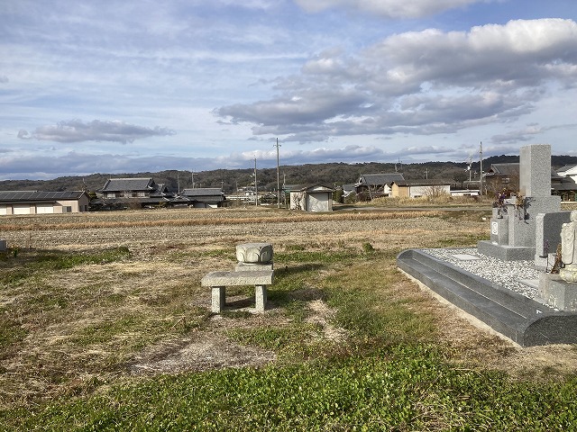
{"type": "Polygon", "coordinates": [[[551,146],[534,144],[520,148],[519,191],[494,208],[490,240],[482,240],[481,254],[503,260],[533,260],[554,253],[563,222],[561,197],[551,195],[551,146]]]}

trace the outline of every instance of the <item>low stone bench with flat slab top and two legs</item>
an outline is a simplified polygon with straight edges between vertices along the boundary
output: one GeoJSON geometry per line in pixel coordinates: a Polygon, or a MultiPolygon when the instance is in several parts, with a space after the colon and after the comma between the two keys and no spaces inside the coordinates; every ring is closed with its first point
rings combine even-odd
{"type": "Polygon", "coordinates": [[[267,285],[272,284],[272,270],[243,272],[211,272],[202,278],[201,286],[212,290],[211,311],[220,313],[226,304],[227,286],[254,285],[254,309],[264,312],[267,303],[267,285]]]}

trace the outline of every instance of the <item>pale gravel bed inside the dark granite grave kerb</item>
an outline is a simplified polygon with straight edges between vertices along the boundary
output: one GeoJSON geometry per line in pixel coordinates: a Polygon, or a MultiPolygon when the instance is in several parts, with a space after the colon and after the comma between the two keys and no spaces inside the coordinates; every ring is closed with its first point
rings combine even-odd
{"type": "Polygon", "coordinates": [[[521,282],[521,280],[538,281],[542,270],[534,267],[533,261],[503,261],[497,258],[480,254],[476,248],[446,248],[446,249],[422,249],[423,252],[463,268],[473,275],[487,279],[493,284],[525,295],[535,300],[538,296],[538,288],[521,282]],[[479,259],[461,259],[455,255],[471,255],[479,259]]]}

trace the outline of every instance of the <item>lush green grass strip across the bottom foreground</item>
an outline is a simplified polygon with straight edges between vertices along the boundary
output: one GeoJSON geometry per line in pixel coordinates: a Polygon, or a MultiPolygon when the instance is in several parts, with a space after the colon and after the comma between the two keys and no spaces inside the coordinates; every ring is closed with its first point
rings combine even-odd
{"type": "Polygon", "coordinates": [[[161,375],[31,411],[5,429],[32,430],[570,430],[577,379],[517,383],[445,364],[434,349],[161,375]],[[183,396],[186,395],[186,396],[183,396]]]}

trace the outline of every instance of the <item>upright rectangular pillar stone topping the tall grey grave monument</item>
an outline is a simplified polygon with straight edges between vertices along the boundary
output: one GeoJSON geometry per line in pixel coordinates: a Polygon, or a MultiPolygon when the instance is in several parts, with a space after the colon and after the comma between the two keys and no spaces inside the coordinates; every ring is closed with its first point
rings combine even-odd
{"type": "Polygon", "coordinates": [[[533,144],[519,149],[519,190],[523,196],[551,195],[549,144],[533,144]]]}

